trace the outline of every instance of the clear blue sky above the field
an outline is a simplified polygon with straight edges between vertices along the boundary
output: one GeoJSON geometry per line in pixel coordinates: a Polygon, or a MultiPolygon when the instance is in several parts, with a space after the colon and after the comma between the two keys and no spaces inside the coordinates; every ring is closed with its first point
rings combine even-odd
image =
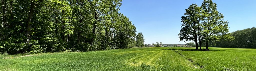
{"type": "MultiPolygon", "coordinates": [[[[120,13],[129,17],[142,32],[145,44],[185,44],[179,42],[181,16],[191,4],[204,0],[123,0],[120,13]]],[[[213,0],[229,22],[230,32],[256,27],[256,0],[213,0]]]]}

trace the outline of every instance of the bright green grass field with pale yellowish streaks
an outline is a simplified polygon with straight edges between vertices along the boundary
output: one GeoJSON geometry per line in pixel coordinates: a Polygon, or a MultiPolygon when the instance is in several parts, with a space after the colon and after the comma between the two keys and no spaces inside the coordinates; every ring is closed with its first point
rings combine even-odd
{"type": "Polygon", "coordinates": [[[256,70],[256,49],[150,47],[0,55],[1,70],[256,70]]]}

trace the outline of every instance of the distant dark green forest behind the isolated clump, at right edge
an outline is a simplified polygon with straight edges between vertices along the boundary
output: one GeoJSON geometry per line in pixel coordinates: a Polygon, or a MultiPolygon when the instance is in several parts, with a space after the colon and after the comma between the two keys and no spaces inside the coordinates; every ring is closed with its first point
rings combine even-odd
{"type": "Polygon", "coordinates": [[[256,48],[255,27],[231,32],[230,36],[234,37],[235,39],[232,41],[212,41],[210,42],[210,46],[223,48],[256,48]]]}

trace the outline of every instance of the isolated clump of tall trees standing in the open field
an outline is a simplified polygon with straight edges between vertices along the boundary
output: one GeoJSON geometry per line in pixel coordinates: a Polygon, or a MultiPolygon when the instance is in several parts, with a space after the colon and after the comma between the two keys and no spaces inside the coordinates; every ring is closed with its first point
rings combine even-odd
{"type": "Polygon", "coordinates": [[[228,22],[224,20],[222,13],[217,10],[217,4],[212,0],[204,0],[199,7],[192,4],[186,9],[185,16],[182,16],[182,26],[179,35],[180,41],[194,41],[198,50],[198,42],[201,50],[202,43],[206,44],[211,41],[219,41],[221,39],[232,40],[230,37],[228,22]]]}

